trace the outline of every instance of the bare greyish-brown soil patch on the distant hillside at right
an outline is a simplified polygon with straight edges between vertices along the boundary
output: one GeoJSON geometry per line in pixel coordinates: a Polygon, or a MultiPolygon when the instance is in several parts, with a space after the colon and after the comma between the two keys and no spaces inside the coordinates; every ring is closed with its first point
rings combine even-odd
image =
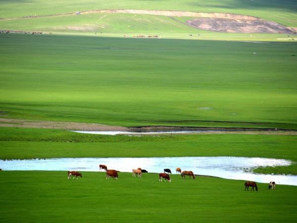
{"type": "Polygon", "coordinates": [[[227,19],[227,18],[196,18],[186,24],[209,31],[227,33],[287,33],[294,34],[291,29],[276,22],[263,19],[227,19]]]}

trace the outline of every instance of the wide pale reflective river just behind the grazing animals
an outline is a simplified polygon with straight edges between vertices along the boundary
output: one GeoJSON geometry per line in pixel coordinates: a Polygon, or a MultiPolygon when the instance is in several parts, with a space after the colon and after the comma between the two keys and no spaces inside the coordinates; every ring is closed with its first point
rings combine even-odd
{"type": "Polygon", "coordinates": [[[297,176],[262,175],[250,173],[257,167],[289,166],[290,160],[247,157],[153,157],[153,158],[58,158],[32,160],[0,160],[2,170],[99,171],[99,164],[108,169],[132,172],[141,167],[149,173],[161,173],[164,168],[191,170],[196,175],[228,179],[275,181],[277,184],[297,185],[297,176]]]}

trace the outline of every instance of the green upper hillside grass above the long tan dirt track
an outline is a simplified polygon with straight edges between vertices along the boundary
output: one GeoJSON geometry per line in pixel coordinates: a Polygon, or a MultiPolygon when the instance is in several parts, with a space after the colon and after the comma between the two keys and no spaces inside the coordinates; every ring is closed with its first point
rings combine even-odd
{"type": "Polygon", "coordinates": [[[159,9],[251,15],[286,26],[297,24],[295,0],[1,0],[0,17],[52,15],[94,9],[159,9]]]}

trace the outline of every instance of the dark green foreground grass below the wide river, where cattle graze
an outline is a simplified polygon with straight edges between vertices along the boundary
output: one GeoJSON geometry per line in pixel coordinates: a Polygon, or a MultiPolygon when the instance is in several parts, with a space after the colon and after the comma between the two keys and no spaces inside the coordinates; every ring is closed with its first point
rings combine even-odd
{"type": "Polygon", "coordinates": [[[292,222],[297,187],[259,183],[245,191],[244,181],[197,177],[159,182],[157,174],[132,178],[119,173],[0,172],[0,220],[3,222],[292,222]],[[269,208],[267,208],[269,203],[269,208]],[[189,214],[190,211],[190,214],[189,214]],[[79,214],[73,214],[79,213],[79,214]],[[164,217],[164,213],[165,217],[164,217]],[[188,213],[188,214],[183,214],[188,213]]]}

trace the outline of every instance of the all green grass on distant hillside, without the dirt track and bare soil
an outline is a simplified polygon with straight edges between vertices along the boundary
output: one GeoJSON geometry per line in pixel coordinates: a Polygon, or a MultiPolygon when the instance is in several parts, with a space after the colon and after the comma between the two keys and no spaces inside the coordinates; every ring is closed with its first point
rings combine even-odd
{"type": "MultiPolygon", "coordinates": [[[[90,13],[60,15],[59,13],[96,9],[150,9],[181,10],[195,12],[239,13],[297,27],[297,7],[294,0],[15,0],[2,1],[0,29],[39,31],[57,35],[85,35],[123,37],[123,35],[158,35],[166,39],[277,41],[285,34],[244,34],[203,31],[186,25],[186,19],[194,17],[167,17],[144,14],[90,13]],[[27,18],[26,16],[37,16],[27,18]],[[48,17],[38,17],[48,16],[48,17]],[[23,18],[24,17],[24,18],[23,18]],[[10,18],[10,19],[7,19],[10,18]],[[11,18],[18,18],[12,19],[11,18]],[[192,36],[190,36],[190,34],[192,36]]],[[[290,38],[296,35],[291,35],[290,38]]]]}

